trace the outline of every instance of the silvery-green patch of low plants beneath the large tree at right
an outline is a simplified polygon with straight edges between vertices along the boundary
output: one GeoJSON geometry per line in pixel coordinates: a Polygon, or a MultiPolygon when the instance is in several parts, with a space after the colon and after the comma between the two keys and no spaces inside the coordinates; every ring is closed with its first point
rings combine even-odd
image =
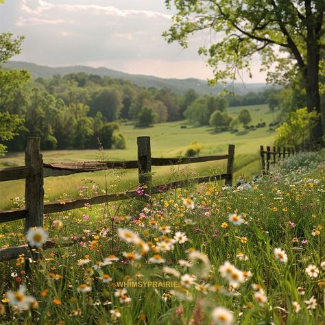
{"type": "Polygon", "coordinates": [[[320,152],[300,152],[282,160],[280,169],[285,171],[296,171],[297,169],[315,169],[322,163],[322,153],[320,152]]]}

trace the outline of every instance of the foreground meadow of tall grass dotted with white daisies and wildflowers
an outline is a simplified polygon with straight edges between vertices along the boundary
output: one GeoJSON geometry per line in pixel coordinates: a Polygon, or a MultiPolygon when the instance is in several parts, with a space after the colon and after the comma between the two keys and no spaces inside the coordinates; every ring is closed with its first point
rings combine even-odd
{"type": "MultiPolygon", "coordinates": [[[[324,324],[324,193],[323,163],[47,215],[51,238],[84,238],[29,274],[24,258],[0,263],[0,323],[324,324]],[[22,283],[37,303],[19,312],[5,293],[22,283]]],[[[1,246],[25,240],[21,221],[0,227],[1,246]]]]}

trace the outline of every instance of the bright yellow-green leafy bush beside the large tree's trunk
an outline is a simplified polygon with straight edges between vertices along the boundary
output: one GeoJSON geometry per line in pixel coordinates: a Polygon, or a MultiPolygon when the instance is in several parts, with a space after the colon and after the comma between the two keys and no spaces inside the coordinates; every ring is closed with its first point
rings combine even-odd
{"type": "Polygon", "coordinates": [[[299,108],[290,112],[287,122],[282,123],[276,132],[276,145],[297,146],[304,144],[309,139],[309,129],[316,123],[319,115],[317,112],[308,112],[307,108],[299,108]]]}

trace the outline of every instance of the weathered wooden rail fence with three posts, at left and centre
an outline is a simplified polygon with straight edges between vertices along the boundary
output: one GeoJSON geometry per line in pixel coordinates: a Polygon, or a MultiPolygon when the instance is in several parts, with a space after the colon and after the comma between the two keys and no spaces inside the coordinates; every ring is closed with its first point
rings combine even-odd
{"type": "MultiPolygon", "coordinates": [[[[43,163],[40,154],[40,138],[29,137],[25,150],[25,166],[8,167],[0,169],[0,182],[9,180],[25,179],[25,208],[19,210],[0,211],[0,223],[25,219],[25,232],[30,227],[43,226],[44,214],[58,213],[66,210],[82,208],[85,204],[101,204],[119,200],[127,200],[139,196],[136,190],[121,193],[97,195],[94,197],[77,197],[74,199],[57,200],[44,204],[44,178],[49,176],[66,176],[73,173],[86,173],[91,171],[103,171],[106,169],[138,169],[139,185],[145,189],[145,194],[156,194],[177,187],[186,186],[189,182],[210,182],[225,180],[226,185],[232,186],[234,167],[234,145],[228,145],[228,154],[200,157],[177,157],[177,158],[152,158],[150,137],[139,136],[137,138],[138,160],[128,161],[92,161],[76,163],[43,163]],[[227,160],[226,173],[203,176],[189,180],[180,180],[168,184],[152,186],[152,166],[171,166],[192,163],[202,163],[214,160],[227,160]]],[[[148,197],[144,195],[144,197],[148,197]]],[[[66,239],[73,245],[72,239],[66,239]]],[[[56,242],[49,239],[43,248],[53,248],[56,242]]],[[[1,248],[0,262],[10,261],[21,254],[29,256],[28,245],[1,248]]]]}

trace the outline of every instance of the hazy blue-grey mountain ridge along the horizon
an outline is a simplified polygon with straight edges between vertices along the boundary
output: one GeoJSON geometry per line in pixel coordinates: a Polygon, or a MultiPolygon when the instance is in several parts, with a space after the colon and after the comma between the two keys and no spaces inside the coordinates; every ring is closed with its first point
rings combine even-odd
{"type": "MultiPolygon", "coordinates": [[[[171,88],[175,93],[184,93],[187,89],[193,88],[200,95],[213,94],[217,95],[224,91],[224,85],[217,85],[214,87],[208,86],[206,80],[200,80],[195,78],[188,79],[167,79],[154,77],[151,75],[133,75],[130,73],[124,73],[121,71],[115,71],[105,67],[93,68],[82,65],[76,65],[71,67],[47,67],[45,65],[38,65],[35,63],[20,62],[20,61],[10,61],[6,62],[3,66],[5,69],[26,69],[34,78],[38,77],[53,77],[53,75],[68,75],[69,73],[79,73],[84,72],[87,74],[100,75],[101,77],[112,77],[122,80],[129,80],[137,86],[149,88],[171,88]]],[[[237,93],[238,95],[245,95],[250,91],[257,93],[258,91],[263,91],[263,88],[267,87],[266,84],[256,83],[256,84],[242,84],[234,83],[227,85],[228,90],[237,93]]]]}

